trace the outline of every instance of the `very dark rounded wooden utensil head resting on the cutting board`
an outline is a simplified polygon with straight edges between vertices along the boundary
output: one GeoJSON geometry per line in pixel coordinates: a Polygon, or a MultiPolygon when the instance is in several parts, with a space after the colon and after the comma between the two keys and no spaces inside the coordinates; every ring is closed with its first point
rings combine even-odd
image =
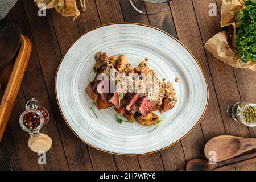
{"type": "Polygon", "coordinates": [[[20,29],[14,22],[6,22],[0,26],[0,69],[5,67],[18,51],[20,29]]]}

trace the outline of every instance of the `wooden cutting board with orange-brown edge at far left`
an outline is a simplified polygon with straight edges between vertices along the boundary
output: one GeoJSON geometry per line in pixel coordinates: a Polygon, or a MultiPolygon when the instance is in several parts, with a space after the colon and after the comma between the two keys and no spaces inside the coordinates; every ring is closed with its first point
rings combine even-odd
{"type": "Polygon", "coordinates": [[[31,51],[30,39],[21,35],[18,55],[0,71],[0,142],[19,92],[31,51]]]}

